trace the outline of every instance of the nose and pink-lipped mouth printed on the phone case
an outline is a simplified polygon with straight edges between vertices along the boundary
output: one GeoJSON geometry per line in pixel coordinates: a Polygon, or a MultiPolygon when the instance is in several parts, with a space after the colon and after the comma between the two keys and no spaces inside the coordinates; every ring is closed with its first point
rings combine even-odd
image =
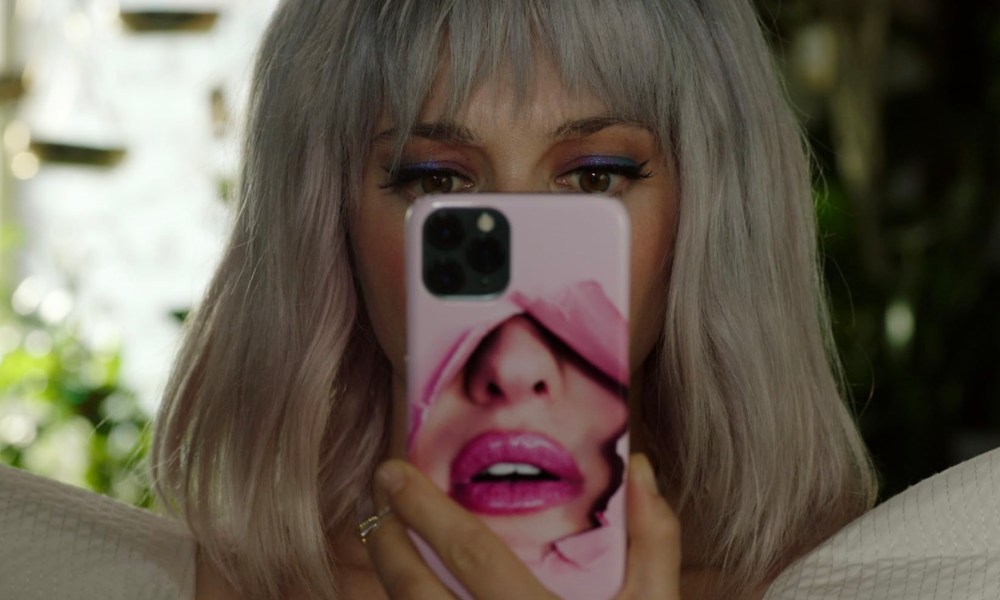
{"type": "Polygon", "coordinates": [[[542,549],[594,526],[627,420],[617,386],[516,316],[432,399],[410,460],[508,543],[542,549]]]}

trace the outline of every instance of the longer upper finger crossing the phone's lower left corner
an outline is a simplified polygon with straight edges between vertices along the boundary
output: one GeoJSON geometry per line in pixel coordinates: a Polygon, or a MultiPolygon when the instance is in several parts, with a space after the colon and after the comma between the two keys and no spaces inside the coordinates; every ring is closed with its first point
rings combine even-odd
{"type": "Polygon", "coordinates": [[[473,597],[554,598],[496,534],[414,467],[390,460],[375,481],[398,518],[394,525],[413,529],[473,597]]]}

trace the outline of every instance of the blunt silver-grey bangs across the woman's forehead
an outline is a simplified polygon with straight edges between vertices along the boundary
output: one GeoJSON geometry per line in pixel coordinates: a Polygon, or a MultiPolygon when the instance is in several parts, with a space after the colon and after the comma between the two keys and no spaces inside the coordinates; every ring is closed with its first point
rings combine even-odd
{"type": "Polygon", "coordinates": [[[368,108],[379,109],[373,122],[392,123],[397,151],[438,77],[448,114],[496,78],[509,82],[517,110],[530,97],[540,58],[552,62],[570,93],[594,94],[609,113],[647,124],[661,143],[671,137],[672,111],[659,100],[674,96],[662,89],[672,54],[656,3],[410,0],[370,10],[377,33],[364,80],[379,81],[380,89],[359,95],[382,99],[368,108]]]}

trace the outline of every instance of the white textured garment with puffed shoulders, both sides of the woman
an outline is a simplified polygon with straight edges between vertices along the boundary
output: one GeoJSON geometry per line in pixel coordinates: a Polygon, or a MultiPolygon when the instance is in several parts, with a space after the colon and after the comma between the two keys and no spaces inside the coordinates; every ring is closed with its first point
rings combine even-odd
{"type": "MultiPolygon", "coordinates": [[[[171,519],[0,466],[0,600],[191,600],[171,519]]],[[[788,568],[765,600],[1000,600],[1000,450],[932,477],[788,568]]]]}

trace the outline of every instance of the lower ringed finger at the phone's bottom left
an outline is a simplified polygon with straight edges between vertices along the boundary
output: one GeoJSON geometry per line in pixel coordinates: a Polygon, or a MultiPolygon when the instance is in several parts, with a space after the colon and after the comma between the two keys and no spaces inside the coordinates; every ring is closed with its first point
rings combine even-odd
{"type": "Polygon", "coordinates": [[[406,527],[391,512],[365,537],[368,556],[386,593],[394,600],[454,598],[413,546],[406,527]]]}

